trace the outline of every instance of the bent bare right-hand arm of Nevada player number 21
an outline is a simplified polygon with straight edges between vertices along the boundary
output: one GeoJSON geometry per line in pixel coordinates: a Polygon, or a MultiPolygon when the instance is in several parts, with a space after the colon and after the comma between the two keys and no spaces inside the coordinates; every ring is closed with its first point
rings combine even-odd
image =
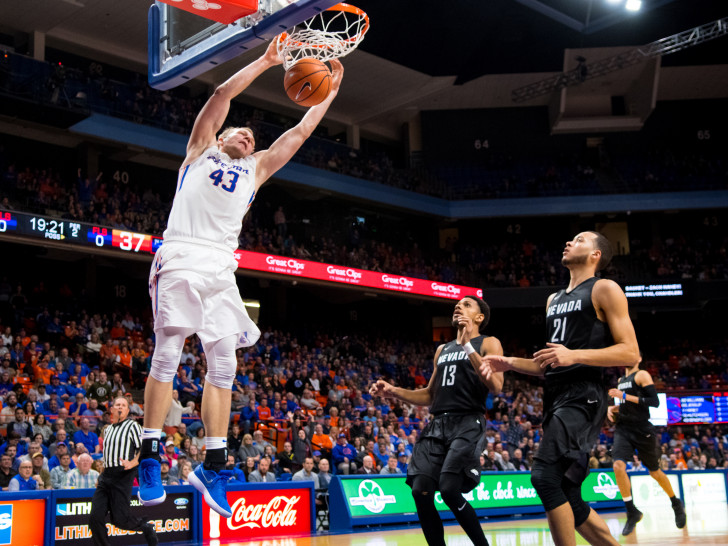
{"type": "MultiPolygon", "coordinates": [[[[547,366],[634,366],[639,362],[640,350],[632,320],[629,318],[627,297],[614,281],[601,279],[594,284],[592,302],[597,315],[604,317],[614,339],[614,344],[603,349],[568,349],[558,343],[547,343],[537,351],[534,360],[543,368],[547,366]]],[[[601,318],[600,316],[600,318],[601,318]]]]}

